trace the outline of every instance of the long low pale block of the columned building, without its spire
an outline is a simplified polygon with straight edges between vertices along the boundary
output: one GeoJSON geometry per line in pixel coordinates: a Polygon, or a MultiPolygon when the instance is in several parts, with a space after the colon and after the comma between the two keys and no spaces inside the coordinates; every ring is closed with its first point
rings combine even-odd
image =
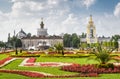
{"type": "MultiPolygon", "coordinates": [[[[35,47],[41,49],[41,47],[52,47],[55,44],[63,43],[63,39],[60,36],[47,36],[47,37],[24,37],[21,39],[22,47],[28,49],[29,47],[35,47]]],[[[45,49],[46,49],[45,48],[45,49]]]]}

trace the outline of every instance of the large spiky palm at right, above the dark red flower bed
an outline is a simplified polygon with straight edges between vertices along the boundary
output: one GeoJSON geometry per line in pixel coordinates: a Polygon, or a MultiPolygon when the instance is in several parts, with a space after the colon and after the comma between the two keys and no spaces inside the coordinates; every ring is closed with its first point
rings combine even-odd
{"type": "Polygon", "coordinates": [[[100,64],[107,64],[110,60],[116,60],[113,55],[111,55],[114,49],[106,49],[102,47],[101,44],[96,49],[91,52],[95,55],[95,60],[98,60],[100,64]]]}

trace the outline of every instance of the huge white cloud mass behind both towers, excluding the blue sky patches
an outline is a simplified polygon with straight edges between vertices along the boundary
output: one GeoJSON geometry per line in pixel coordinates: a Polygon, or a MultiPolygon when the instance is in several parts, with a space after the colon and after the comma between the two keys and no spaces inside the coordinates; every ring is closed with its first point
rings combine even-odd
{"type": "MultiPolygon", "coordinates": [[[[37,28],[40,27],[39,23],[41,17],[44,18],[45,28],[48,29],[50,35],[60,33],[81,34],[82,32],[86,32],[89,15],[74,13],[73,9],[77,10],[74,7],[80,6],[79,8],[81,8],[83,4],[85,7],[89,8],[95,2],[95,0],[12,1],[12,10],[9,13],[0,11],[0,27],[4,27],[3,29],[0,29],[0,36],[2,37],[0,40],[6,40],[8,33],[13,34],[14,30],[18,32],[21,28],[27,33],[31,32],[32,34],[36,34],[37,28]]],[[[94,15],[93,21],[98,35],[110,35],[114,32],[112,28],[117,28],[113,34],[119,33],[118,25],[120,25],[120,22],[112,15],[94,15]]]]}

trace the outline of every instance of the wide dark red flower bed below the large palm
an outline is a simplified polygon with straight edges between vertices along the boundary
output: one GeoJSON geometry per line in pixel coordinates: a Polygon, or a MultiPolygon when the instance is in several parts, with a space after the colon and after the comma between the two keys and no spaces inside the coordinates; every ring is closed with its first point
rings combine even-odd
{"type": "Polygon", "coordinates": [[[114,68],[99,68],[96,65],[78,65],[63,66],[61,70],[70,72],[79,72],[81,76],[98,76],[103,73],[120,73],[120,65],[114,68]]]}

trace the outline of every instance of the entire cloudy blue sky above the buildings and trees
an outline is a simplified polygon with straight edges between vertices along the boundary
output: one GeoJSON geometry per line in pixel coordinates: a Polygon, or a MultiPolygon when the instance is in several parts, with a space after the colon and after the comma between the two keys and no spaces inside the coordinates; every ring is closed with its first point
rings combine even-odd
{"type": "Polygon", "coordinates": [[[90,15],[97,36],[120,35],[120,0],[0,0],[0,41],[21,28],[37,35],[41,18],[49,35],[81,35],[90,15]]]}

